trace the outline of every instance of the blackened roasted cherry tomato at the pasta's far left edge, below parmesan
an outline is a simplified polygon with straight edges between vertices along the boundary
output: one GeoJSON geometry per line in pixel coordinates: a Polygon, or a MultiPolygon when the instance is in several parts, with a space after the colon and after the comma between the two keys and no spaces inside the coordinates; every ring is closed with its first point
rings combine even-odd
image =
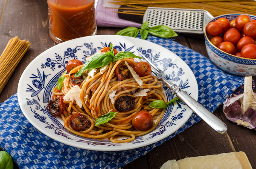
{"type": "Polygon", "coordinates": [[[63,102],[63,96],[52,99],[47,104],[47,109],[51,115],[60,115],[64,112],[65,103],[63,102]]]}

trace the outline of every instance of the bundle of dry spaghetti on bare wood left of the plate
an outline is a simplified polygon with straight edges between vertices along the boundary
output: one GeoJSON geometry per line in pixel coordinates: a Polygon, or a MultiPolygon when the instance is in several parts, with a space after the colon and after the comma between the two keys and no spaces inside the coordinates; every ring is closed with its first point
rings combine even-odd
{"type": "Polygon", "coordinates": [[[29,41],[20,40],[17,36],[10,39],[7,43],[0,56],[0,92],[2,92],[21,58],[29,49],[29,46],[29,41]]]}

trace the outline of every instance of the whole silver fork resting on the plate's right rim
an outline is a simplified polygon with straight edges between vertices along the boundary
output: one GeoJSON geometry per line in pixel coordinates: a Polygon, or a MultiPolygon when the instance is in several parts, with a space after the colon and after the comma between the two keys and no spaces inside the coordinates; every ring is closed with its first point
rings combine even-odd
{"type": "Polygon", "coordinates": [[[144,57],[143,54],[140,53],[140,57],[143,58],[143,61],[148,62],[151,65],[152,72],[157,74],[157,79],[166,84],[166,86],[172,91],[173,95],[176,95],[181,101],[183,101],[183,103],[189,106],[189,108],[192,109],[192,111],[195,112],[199,117],[201,117],[201,119],[204,120],[210,127],[212,127],[212,129],[219,133],[224,133],[227,131],[226,124],[223,123],[218,117],[209,112],[204,106],[198,103],[186,92],[180,90],[180,86],[176,86],[175,84],[171,83],[170,80],[163,78],[165,76],[164,72],[155,66],[148,58],[144,57]]]}

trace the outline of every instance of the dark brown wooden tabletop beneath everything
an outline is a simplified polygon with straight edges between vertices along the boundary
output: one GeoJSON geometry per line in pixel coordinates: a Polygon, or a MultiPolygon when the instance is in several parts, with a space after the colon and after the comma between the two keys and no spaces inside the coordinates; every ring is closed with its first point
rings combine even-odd
{"type": "MultiPolygon", "coordinates": [[[[0,11],[0,52],[9,39],[15,36],[29,40],[31,43],[28,52],[0,94],[0,103],[2,103],[17,92],[20,76],[26,66],[56,43],[49,37],[46,0],[0,0],[0,11]]],[[[97,34],[115,34],[119,30],[121,28],[98,27],[97,34]]],[[[202,38],[179,34],[175,41],[208,57],[202,38]]],[[[256,77],[253,79],[256,80],[256,77]]],[[[228,130],[225,134],[218,134],[201,120],[123,168],[159,169],[164,162],[171,159],[244,151],[255,169],[256,131],[227,120],[222,112],[222,105],[214,114],[227,124],[228,130]]]]}

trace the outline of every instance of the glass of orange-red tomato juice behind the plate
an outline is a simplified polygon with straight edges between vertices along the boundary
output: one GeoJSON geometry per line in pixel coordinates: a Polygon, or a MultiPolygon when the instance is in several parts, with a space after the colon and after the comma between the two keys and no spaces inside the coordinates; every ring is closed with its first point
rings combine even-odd
{"type": "Polygon", "coordinates": [[[94,0],[47,0],[47,3],[49,34],[55,42],[96,34],[94,0]]]}

